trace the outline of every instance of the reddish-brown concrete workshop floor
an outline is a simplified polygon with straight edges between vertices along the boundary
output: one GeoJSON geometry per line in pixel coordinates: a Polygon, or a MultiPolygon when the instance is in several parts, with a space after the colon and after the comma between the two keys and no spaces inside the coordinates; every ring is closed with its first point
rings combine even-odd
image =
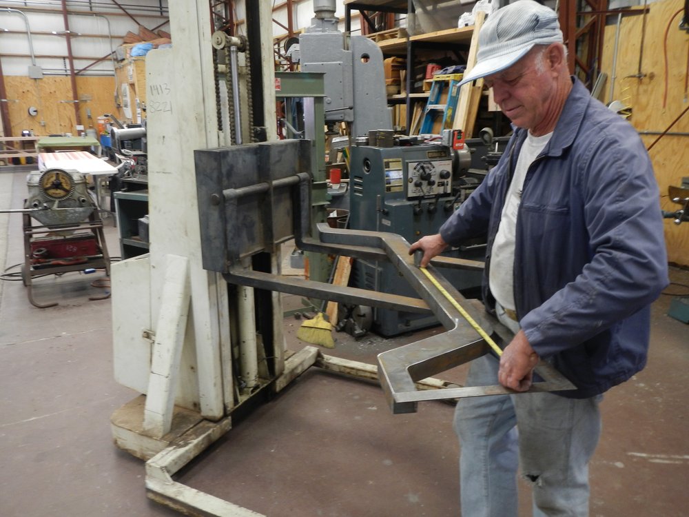
{"type": "MultiPolygon", "coordinates": [[[[23,196],[25,172],[0,172],[0,208],[20,207],[23,196]]],[[[111,222],[106,230],[119,255],[111,222]]],[[[22,260],[22,247],[21,217],[0,214],[3,271],[22,260]]],[[[689,285],[688,271],[671,274],[689,285]]],[[[110,414],[136,393],[112,380],[110,301],[88,300],[103,294],[96,278],[103,274],[39,279],[36,297],[60,301],[48,309],[30,305],[21,282],[0,281],[0,516],[178,515],[146,498],[143,462],[112,443],[110,414]]],[[[666,316],[670,298],[653,307],[648,367],[601,406],[592,516],[687,515],[689,326],[666,316]]],[[[299,323],[285,319],[292,349],[303,345],[299,323]]],[[[416,339],[338,334],[328,353],[372,362],[416,339]]],[[[442,378],[461,381],[464,370],[442,378]]],[[[267,516],[457,516],[452,414],[449,404],[421,403],[393,416],[376,385],[311,368],[176,479],[267,516]]],[[[527,516],[525,483],[520,491],[527,516]]]]}

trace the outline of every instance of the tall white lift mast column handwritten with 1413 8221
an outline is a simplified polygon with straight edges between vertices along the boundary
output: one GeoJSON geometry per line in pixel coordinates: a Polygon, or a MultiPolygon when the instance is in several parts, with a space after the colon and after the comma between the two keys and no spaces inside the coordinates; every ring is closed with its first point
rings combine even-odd
{"type": "Polygon", "coordinates": [[[194,172],[194,150],[217,147],[222,136],[212,26],[207,1],[171,2],[169,10],[174,45],[146,59],[151,313],[155,321],[164,303],[165,256],[187,257],[192,305],[176,401],[217,419],[224,414],[220,347],[229,339],[229,304],[223,278],[202,267],[194,172]]]}

